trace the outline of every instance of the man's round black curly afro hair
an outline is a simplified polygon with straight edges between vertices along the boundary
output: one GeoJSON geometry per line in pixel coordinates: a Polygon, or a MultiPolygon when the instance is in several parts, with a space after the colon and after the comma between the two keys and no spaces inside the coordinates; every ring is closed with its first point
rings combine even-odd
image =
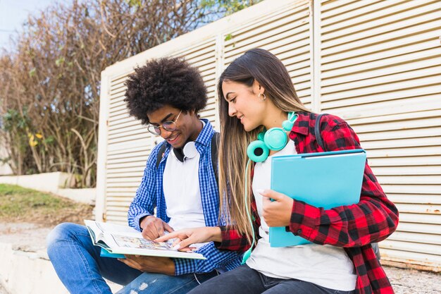
{"type": "Polygon", "coordinates": [[[124,101],[131,116],[149,124],[147,114],[170,105],[182,111],[204,109],[207,102],[204,80],[197,68],[180,58],[147,61],[135,68],[125,85],[124,101]]]}

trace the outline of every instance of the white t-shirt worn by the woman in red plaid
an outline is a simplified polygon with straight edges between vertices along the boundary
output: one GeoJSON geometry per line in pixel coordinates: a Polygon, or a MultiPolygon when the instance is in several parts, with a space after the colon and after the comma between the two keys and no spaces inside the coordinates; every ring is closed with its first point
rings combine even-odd
{"type": "MultiPolygon", "coordinates": [[[[261,239],[251,252],[247,265],[272,278],[297,278],[334,290],[354,290],[354,264],[341,247],[318,244],[270,247],[269,228],[262,217],[263,197],[256,191],[271,188],[271,157],[289,154],[296,154],[292,140],[285,148],[254,167],[252,189],[261,219],[261,239]]],[[[292,184],[295,185],[295,178],[292,184]]]]}

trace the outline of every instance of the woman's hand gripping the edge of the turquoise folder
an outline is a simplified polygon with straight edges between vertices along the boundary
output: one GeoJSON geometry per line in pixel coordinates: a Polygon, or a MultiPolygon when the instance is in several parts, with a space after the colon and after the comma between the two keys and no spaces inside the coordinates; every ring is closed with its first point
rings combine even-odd
{"type": "Polygon", "coordinates": [[[266,224],[268,226],[290,226],[294,200],[273,190],[263,190],[259,194],[263,196],[262,216],[266,224]],[[270,198],[274,201],[271,201],[270,198]]]}

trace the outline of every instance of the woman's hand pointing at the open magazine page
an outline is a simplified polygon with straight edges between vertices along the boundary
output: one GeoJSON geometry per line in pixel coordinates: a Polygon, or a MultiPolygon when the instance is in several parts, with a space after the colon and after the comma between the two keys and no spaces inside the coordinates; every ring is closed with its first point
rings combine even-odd
{"type": "Polygon", "coordinates": [[[163,235],[161,238],[157,238],[155,241],[164,242],[173,238],[176,238],[173,246],[179,245],[178,249],[181,251],[192,250],[192,248],[189,246],[194,243],[222,241],[221,228],[217,226],[205,226],[202,228],[184,228],[182,230],[163,235]]]}

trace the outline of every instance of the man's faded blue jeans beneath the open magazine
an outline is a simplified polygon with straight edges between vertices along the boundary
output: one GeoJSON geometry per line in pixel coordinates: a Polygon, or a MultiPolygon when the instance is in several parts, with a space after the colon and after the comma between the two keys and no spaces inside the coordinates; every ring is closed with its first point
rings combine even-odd
{"type": "Polygon", "coordinates": [[[118,292],[120,294],[180,294],[217,275],[213,271],[168,276],[132,269],[116,258],[101,257],[101,248],[92,244],[87,228],[75,223],[56,226],[47,236],[46,243],[56,274],[71,294],[111,294],[104,278],[127,285],[118,292]]]}

